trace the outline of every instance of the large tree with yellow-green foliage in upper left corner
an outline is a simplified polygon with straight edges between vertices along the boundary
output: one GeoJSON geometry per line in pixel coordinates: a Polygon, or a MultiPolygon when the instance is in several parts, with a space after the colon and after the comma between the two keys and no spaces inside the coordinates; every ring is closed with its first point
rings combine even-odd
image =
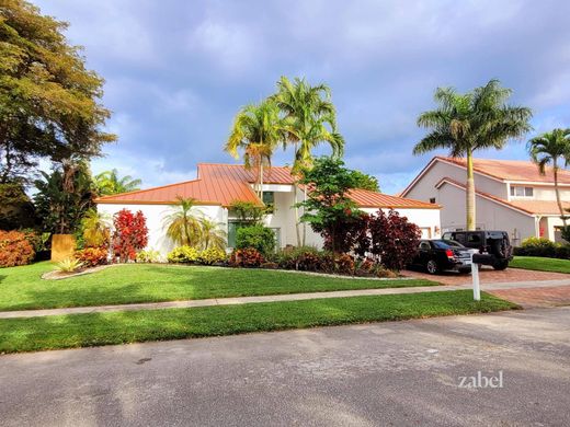
{"type": "Polygon", "coordinates": [[[115,139],[102,130],[110,117],[100,104],[103,79],[86,68],[66,28],[26,1],[0,7],[0,183],[29,180],[42,158],[99,155],[115,139]]]}

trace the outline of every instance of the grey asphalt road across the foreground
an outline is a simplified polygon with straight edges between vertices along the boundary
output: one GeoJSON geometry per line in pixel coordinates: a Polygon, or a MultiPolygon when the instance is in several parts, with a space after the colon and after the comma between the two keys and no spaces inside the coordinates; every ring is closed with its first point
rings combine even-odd
{"type": "Polygon", "coordinates": [[[0,425],[570,426],[570,307],[1,356],[0,425]]]}

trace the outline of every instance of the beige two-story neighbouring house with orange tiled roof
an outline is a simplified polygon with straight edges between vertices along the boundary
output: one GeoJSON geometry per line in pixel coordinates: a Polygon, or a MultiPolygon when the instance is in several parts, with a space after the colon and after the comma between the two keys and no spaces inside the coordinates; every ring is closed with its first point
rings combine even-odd
{"type": "MultiPolygon", "coordinates": [[[[474,160],[476,227],[504,230],[515,245],[529,236],[560,241],[562,220],[552,170],[545,175],[531,161],[474,160]]],[[[401,193],[442,206],[443,231],[465,229],[466,160],[435,157],[401,193]]],[[[570,171],[559,172],[560,197],[570,207],[570,171]]]]}

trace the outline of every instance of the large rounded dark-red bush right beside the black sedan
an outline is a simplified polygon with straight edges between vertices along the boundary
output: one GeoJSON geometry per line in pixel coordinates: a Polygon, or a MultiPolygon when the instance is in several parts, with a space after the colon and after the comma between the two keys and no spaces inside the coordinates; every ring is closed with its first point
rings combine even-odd
{"type": "Polygon", "coordinates": [[[372,253],[386,268],[400,270],[413,258],[420,243],[418,226],[394,210],[378,210],[368,221],[372,253]]]}

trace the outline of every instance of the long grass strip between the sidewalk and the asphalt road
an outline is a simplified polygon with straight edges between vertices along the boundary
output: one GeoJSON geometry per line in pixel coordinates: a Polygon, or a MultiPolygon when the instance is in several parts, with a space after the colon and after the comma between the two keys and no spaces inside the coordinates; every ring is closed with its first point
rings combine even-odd
{"type": "Polygon", "coordinates": [[[470,290],[0,320],[0,353],[232,335],[515,309],[470,290]]]}

